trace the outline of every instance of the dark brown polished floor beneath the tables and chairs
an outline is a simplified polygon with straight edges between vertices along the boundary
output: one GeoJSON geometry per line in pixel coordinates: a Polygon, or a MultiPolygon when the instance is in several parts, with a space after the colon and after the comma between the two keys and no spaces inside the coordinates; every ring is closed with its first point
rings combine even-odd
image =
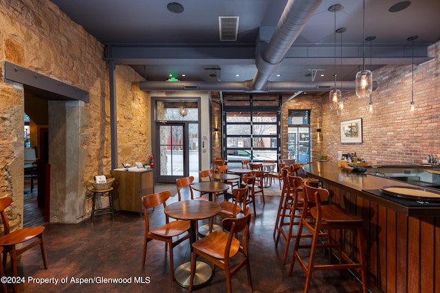
{"type": "MultiPolygon", "coordinates": [[[[278,192],[274,185],[272,194],[278,192]]],[[[292,277],[288,276],[289,264],[282,264],[285,242],[281,239],[276,248],[272,237],[279,199],[266,196],[263,205],[257,198],[257,215],[252,214],[249,248],[254,292],[303,292],[305,274],[297,263],[292,277]]],[[[168,203],[175,200],[177,197],[172,197],[168,203]]],[[[25,203],[29,209],[31,204],[32,200],[25,203]]],[[[164,222],[162,207],[150,213],[153,226],[164,222]]],[[[36,215],[33,224],[38,223],[36,215]]],[[[25,252],[19,262],[19,275],[24,277],[19,292],[188,292],[170,281],[168,253],[162,242],[148,243],[146,266],[142,268],[144,218],[138,214],[118,212],[114,221],[110,215],[102,215],[96,217],[94,226],[89,220],[45,226],[49,268],[44,269],[38,247],[25,252]],[[119,283],[107,283],[111,278],[119,278],[119,283]]],[[[323,254],[320,258],[327,259],[323,254]]],[[[174,248],[175,268],[189,259],[188,242],[174,248]]],[[[6,274],[10,274],[9,267],[6,274]]],[[[362,292],[360,283],[349,272],[341,277],[338,271],[317,271],[313,277],[310,292],[362,292]]],[[[232,290],[250,292],[245,268],[232,278],[232,290]]],[[[224,272],[217,269],[211,281],[195,292],[226,292],[224,272]]]]}

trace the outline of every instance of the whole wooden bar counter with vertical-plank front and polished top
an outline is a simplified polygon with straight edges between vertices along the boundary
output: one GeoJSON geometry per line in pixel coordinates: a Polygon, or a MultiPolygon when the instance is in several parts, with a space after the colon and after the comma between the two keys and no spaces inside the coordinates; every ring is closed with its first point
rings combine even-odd
{"type": "MultiPolygon", "coordinates": [[[[329,189],[331,202],[365,220],[369,288],[375,292],[440,292],[440,204],[381,194],[385,185],[414,187],[390,178],[347,172],[333,162],[303,166],[329,189]],[[379,191],[379,192],[376,192],[379,191]]],[[[355,255],[355,235],[344,235],[355,255]],[[352,245],[353,244],[353,245],[352,245]]]]}

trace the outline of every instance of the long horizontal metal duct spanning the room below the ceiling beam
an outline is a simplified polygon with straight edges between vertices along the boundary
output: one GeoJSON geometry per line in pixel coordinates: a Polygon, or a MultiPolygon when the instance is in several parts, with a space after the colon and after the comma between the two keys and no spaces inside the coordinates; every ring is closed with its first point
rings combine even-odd
{"type": "MultiPolygon", "coordinates": [[[[339,84],[340,82],[338,82],[339,84]]],[[[342,82],[344,91],[354,91],[355,81],[342,82]]],[[[254,89],[252,80],[245,82],[139,82],[142,91],[223,91],[245,93],[270,93],[282,91],[331,91],[333,82],[265,82],[262,89],[254,89]]],[[[377,82],[373,82],[373,90],[377,82]]]]}

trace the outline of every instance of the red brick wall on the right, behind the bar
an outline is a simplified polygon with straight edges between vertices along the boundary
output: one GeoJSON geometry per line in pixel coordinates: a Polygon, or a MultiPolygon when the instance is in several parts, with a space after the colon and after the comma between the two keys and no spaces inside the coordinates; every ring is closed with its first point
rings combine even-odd
{"type": "MultiPolygon", "coordinates": [[[[382,67],[373,72],[377,90],[372,100],[379,113],[366,116],[365,99],[343,92],[347,112],[336,115],[328,103],[322,108],[322,152],[336,158],[338,150],[357,152],[373,164],[420,164],[430,153],[440,153],[440,42],[429,48],[434,59],[414,67],[414,117],[408,116],[411,65],[382,67]],[[340,121],[362,118],[363,142],[340,143],[340,121]]],[[[328,97],[326,97],[328,99],[328,97]]],[[[326,100],[327,101],[327,100],[326,100]]]]}

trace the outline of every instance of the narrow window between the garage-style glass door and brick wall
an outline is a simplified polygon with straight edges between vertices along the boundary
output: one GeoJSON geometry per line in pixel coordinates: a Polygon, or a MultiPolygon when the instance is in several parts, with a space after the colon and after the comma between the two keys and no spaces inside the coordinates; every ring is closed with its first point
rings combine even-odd
{"type": "Polygon", "coordinates": [[[288,143],[289,159],[298,163],[310,161],[310,110],[289,110],[288,143]]]}

